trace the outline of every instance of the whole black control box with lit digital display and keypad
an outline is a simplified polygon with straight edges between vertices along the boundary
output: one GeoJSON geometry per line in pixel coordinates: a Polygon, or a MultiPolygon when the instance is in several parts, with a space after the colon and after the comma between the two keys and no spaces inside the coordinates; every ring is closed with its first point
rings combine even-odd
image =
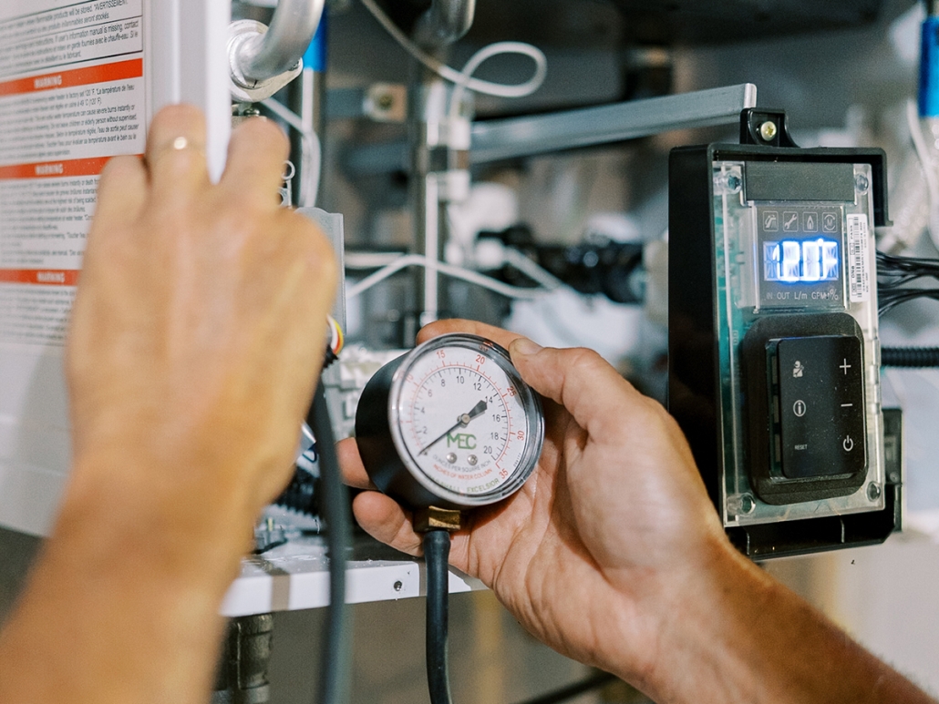
{"type": "Polygon", "coordinates": [[[748,555],[884,540],[901,503],[880,406],[884,154],[797,148],[781,114],[745,111],[742,134],[671,154],[670,411],[748,555]],[[754,119],[783,145],[747,140],[754,119]]]}

